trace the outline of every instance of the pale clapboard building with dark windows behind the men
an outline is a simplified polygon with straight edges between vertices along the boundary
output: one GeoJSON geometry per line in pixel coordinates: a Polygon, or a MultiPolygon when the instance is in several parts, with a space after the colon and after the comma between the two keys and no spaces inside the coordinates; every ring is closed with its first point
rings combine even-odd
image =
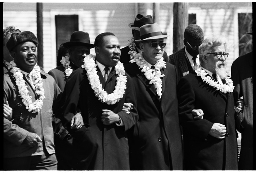
{"type": "MultiPolygon", "coordinates": [[[[91,43],[102,32],[113,32],[121,43],[131,38],[129,23],[137,14],[152,15],[167,37],[165,51],[173,53],[173,16],[175,3],[3,3],[3,27],[15,26],[37,35],[37,10],[42,11],[43,64],[45,72],[57,65],[57,50],[61,43],[69,41],[77,30],[88,32],[91,43]],[[37,9],[41,8],[41,9],[37,9]]],[[[252,2],[240,3],[183,3],[187,12],[186,24],[197,24],[208,36],[223,36],[229,43],[227,69],[240,55],[252,50],[252,2]]],[[[183,12],[181,12],[183,13],[183,12]]],[[[180,31],[183,37],[184,30],[180,31]]],[[[41,44],[42,44],[41,43],[41,44]]],[[[180,39],[180,47],[183,47],[180,39]]],[[[38,49],[41,49],[38,47],[38,49]]],[[[39,52],[38,52],[39,53],[39,52]]],[[[94,54],[94,49],[91,49],[94,54]]],[[[60,60],[58,60],[60,61],[60,60]]],[[[59,65],[59,62],[58,62],[59,65]]]]}

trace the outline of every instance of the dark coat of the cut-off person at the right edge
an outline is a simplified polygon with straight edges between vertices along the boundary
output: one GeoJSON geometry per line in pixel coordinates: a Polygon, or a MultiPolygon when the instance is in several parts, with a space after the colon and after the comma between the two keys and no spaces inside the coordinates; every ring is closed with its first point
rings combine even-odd
{"type": "Polygon", "coordinates": [[[244,111],[236,118],[236,127],[242,133],[239,157],[240,170],[253,169],[253,114],[252,114],[252,52],[237,58],[231,66],[231,78],[234,82],[234,100],[243,96],[244,111]]]}

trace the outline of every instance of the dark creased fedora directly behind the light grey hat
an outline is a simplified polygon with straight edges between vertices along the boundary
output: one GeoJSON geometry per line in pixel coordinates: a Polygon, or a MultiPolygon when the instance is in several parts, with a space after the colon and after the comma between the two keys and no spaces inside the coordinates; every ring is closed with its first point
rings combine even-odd
{"type": "Polygon", "coordinates": [[[141,14],[136,15],[136,18],[133,23],[130,23],[128,26],[134,30],[140,30],[145,24],[154,23],[151,15],[143,16],[141,14]]]}

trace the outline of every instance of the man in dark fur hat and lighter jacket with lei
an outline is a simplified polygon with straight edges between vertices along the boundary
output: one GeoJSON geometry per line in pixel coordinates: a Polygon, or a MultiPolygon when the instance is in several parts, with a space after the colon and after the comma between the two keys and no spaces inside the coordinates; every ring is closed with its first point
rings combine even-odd
{"type": "Polygon", "coordinates": [[[4,102],[13,110],[4,117],[4,170],[57,170],[52,113],[60,88],[37,65],[32,32],[13,33],[6,45],[14,62],[4,74],[4,102]]]}

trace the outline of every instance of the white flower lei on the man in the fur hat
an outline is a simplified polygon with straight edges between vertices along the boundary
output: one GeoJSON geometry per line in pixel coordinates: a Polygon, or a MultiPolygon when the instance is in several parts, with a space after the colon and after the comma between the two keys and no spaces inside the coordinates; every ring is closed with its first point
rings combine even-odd
{"type": "Polygon", "coordinates": [[[36,64],[33,70],[29,73],[29,82],[31,83],[35,93],[39,95],[39,98],[32,102],[31,96],[28,95],[29,91],[27,90],[27,86],[25,85],[25,80],[23,79],[23,73],[21,70],[16,67],[16,64],[12,61],[11,64],[13,65],[11,72],[16,79],[16,85],[18,86],[19,96],[22,98],[23,104],[26,106],[26,109],[32,113],[39,112],[43,106],[43,100],[45,99],[45,90],[43,88],[43,82],[41,78],[41,70],[39,66],[36,64]],[[35,79],[33,82],[32,77],[35,79]]]}

